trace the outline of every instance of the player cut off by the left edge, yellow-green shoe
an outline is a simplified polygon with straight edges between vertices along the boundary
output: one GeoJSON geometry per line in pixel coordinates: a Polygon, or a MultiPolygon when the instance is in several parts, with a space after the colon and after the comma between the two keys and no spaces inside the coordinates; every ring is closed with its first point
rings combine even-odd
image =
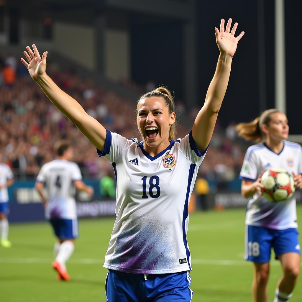
{"type": "Polygon", "coordinates": [[[11,168],[0,162],[0,243],[3,247],[11,247],[8,240],[8,191],[7,188],[14,183],[11,168]]]}

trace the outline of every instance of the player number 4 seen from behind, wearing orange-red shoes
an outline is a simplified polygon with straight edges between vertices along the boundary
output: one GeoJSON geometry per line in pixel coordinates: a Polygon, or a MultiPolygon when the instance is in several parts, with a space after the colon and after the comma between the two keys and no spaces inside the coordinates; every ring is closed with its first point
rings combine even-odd
{"type": "Polygon", "coordinates": [[[71,162],[73,148],[68,141],[58,141],[54,149],[57,159],[44,164],[37,176],[36,189],[43,200],[45,217],[53,226],[58,242],[54,245],[54,269],[61,280],[69,280],[66,271],[66,261],[74,250],[74,239],[78,237],[78,220],[76,202],[71,192],[72,183],[80,191],[86,191],[90,196],[93,188],[82,182],[79,166],[71,162]],[[44,184],[47,196],[43,192],[44,184]]]}

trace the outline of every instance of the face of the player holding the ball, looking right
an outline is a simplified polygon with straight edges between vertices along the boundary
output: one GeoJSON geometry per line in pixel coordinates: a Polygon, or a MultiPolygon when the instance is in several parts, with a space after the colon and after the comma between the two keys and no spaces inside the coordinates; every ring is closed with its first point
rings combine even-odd
{"type": "Polygon", "coordinates": [[[288,120],[284,113],[271,114],[268,126],[264,125],[263,131],[273,140],[286,140],[288,138],[288,120]]]}

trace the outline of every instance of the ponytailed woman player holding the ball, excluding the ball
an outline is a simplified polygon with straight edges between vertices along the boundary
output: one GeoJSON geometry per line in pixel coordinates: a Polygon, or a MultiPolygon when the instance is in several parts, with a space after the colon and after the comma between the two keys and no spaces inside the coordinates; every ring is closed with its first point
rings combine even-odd
{"type": "Polygon", "coordinates": [[[246,152],[240,178],[241,192],[251,198],[246,211],[245,259],[253,262],[252,293],[255,302],[267,301],[267,281],[271,248],[282,265],[274,302],[288,301],[300,270],[296,200],[270,202],[261,194],[262,172],[282,168],[294,175],[295,185],[302,188],[302,148],[286,141],[288,120],[284,113],[270,109],[251,123],[237,125],[239,136],[256,142],[246,152]]]}

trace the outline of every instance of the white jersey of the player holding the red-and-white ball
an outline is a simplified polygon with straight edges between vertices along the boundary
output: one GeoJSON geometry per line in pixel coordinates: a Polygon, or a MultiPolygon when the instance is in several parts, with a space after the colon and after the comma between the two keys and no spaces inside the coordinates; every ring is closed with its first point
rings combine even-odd
{"type": "MultiPolygon", "coordinates": [[[[285,169],[292,175],[302,173],[302,148],[299,144],[284,141],[279,154],[269,149],[265,143],[250,146],[240,172],[240,178],[255,181],[268,169],[285,169]]],[[[267,201],[255,193],[249,200],[246,224],[275,230],[297,228],[296,199],[294,196],[282,202],[267,201]]]]}

